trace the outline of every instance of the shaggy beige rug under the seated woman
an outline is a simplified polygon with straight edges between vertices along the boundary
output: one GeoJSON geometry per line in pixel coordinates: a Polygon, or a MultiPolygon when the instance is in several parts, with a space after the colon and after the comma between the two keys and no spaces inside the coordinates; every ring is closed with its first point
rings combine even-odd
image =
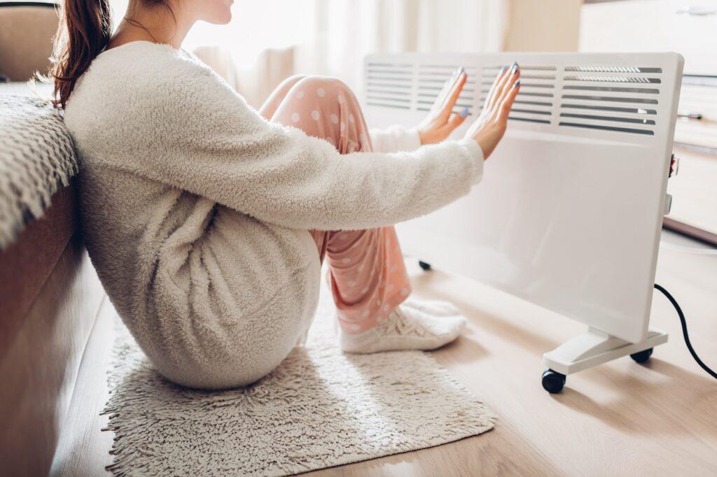
{"type": "Polygon", "coordinates": [[[431,355],[344,355],[331,297],[305,347],[247,388],[187,390],[159,376],[118,322],[109,430],[117,476],[284,476],[484,433],[495,417],[431,355]]]}

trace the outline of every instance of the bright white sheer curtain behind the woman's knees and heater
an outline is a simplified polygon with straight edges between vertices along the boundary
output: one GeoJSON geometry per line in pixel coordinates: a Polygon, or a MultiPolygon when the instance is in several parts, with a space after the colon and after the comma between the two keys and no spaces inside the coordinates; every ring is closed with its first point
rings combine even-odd
{"type": "MultiPolygon", "coordinates": [[[[119,19],[127,0],[112,1],[119,19]]],[[[237,1],[229,25],[198,24],[185,46],[255,107],[295,73],[338,77],[360,97],[369,53],[500,51],[509,1],[237,1]]]]}

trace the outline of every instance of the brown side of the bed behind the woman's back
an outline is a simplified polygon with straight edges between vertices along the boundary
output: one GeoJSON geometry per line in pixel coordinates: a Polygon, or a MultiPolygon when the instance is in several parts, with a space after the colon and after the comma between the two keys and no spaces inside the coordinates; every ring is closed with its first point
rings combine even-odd
{"type": "MultiPolygon", "coordinates": [[[[41,91],[49,92],[49,85],[41,91]]],[[[33,94],[17,84],[0,85],[4,93],[33,94]]],[[[75,425],[67,420],[68,410],[81,387],[80,363],[92,359],[85,345],[105,300],[77,226],[77,193],[71,184],[54,193],[42,218],[0,251],[4,475],[47,475],[60,435],[75,425]]]]}

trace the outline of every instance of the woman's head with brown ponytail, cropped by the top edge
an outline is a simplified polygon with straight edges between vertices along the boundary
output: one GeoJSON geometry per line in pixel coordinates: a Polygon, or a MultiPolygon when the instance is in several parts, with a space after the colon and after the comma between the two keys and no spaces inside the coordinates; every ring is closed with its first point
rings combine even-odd
{"type": "MultiPolygon", "coordinates": [[[[125,21],[149,32],[136,19],[144,11],[168,14],[173,26],[189,26],[198,20],[226,24],[232,19],[234,0],[130,0],[125,21]]],[[[112,36],[110,0],[65,0],[60,28],[54,39],[52,77],[55,105],[65,107],[77,79],[107,47],[112,36]]]]}

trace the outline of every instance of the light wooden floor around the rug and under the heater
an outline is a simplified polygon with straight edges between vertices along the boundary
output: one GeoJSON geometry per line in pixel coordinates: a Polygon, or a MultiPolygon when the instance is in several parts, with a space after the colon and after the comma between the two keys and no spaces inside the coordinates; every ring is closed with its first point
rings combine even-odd
{"type": "MultiPolygon", "coordinates": [[[[460,276],[410,271],[417,297],[450,300],[470,319],[465,336],[434,355],[498,414],[498,423],[456,443],[313,475],[717,475],[717,381],[688,354],[663,297],[653,300],[652,326],[668,331],[670,341],[650,362],[622,358],[579,372],[562,394],[549,395],[540,384],[543,352],[583,332],[583,325],[460,276]]],[[[695,349],[717,367],[717,257],[663,249],[657,282],[682,305],[695,349]]],[[[93,345],[106,347],[107,332],[97,336],[93,345]]],[[[85,383],[82,402],[73,401],[75,418],[96,414],[106,397],[103,374],[92,370],[97,366],[87,363],[95,382],[85,383]]],[[[100,433],[101,422],[63,439],[53,475],[103,474],[111,437],[100,433]]]]}

